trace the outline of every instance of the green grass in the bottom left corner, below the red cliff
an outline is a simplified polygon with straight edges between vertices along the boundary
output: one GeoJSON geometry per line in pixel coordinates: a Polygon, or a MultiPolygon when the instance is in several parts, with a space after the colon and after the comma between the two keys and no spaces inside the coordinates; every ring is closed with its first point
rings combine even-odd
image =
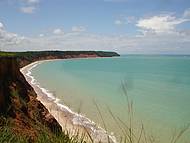
{"type": "MultiPolygon", "coordinates": [[[[36,126],[36,130],[43,129],[34,138],[29,138],[28,136],[15,132],[14,128],[16,126],[12,122],[12,119],[7,119],[0,116],[0,143],[86,143],[86,135],[79,135],[76,133],[75,136],[70,136],[69,132],[64,131],[52,133],[46,126],[36,126]]],[[[55,129],[56,130],[56,129],[55,129]]]]}

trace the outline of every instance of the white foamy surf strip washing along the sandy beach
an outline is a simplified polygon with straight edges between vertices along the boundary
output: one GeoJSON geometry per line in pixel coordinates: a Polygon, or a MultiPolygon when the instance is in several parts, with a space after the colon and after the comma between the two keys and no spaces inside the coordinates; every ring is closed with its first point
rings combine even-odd
{"type": "Polygon", "coordinates": [[[80,125],[82,127],[85,127],[86,129],[89,129],[90,130],[89,133],[93,138],[94,142],[99,142],[99,141],[108,142],[108,137],[109,137],[110,142],[116,143],[117,141],[113,133],[109,135],[103,128],[97,126],[95,122],[85,117],[85,115],[73,112],[68,106],[61,104],[60,99],[56,98],[49,90],[40,86],[37,80],[32,76],[31,70],[43,62],[44,61],[34,62],[28,66],[23,67],[20,70],[23,74],[26,73],[24,74],[24,76],[26,76],[26,79],[27,78],[31,79],[31,81],[28,82],[31,83],[34,89],[35,87],[38,87],[45,95],[47,95],[48,99],[56,103],[56,105],[63,112],[69,113],[72,116],[71,120],[74,125],[80,125]]]}

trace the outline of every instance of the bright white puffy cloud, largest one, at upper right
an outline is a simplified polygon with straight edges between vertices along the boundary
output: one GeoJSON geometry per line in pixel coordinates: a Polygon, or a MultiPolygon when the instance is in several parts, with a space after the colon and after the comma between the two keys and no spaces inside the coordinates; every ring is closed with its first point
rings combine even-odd
{"type": "Polygon", "coordinates": [[[140,19],[136,26],[155,33],[162,32],[172,32],[175,27],[183,22],[188,21],[188,19],[179,18],[171,15],[159,15],[149,18],[140,19]]]}

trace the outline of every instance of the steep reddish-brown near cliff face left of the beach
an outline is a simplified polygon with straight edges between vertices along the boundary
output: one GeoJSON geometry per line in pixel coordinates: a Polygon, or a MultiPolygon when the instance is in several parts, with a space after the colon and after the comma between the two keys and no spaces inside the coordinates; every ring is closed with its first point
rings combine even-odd
{"type": "Polygon", "coordinates": [[[36,97],[21,74],[16,59],[0,57],[0,118],[9,120],[16,134],[31,141],[44,128],[61,133],[61,126],[36,97]]]}

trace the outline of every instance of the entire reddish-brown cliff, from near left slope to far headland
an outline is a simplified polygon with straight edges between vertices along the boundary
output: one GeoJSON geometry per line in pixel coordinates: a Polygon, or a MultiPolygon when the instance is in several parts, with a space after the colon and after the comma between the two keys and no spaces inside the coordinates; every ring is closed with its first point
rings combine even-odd
{"type": "MultiPolygon", "coordinates": [[[[56,136],[55,139],[57,135],[61,136],[64,139],[62,142],[72,140],[63,134],[56,119],[37,100],[34,89],[20,72],[21,67],[38,60],[113,56],[119,55],[102,51],[0,52],[0,142],[3,127],[8,127],[19,138],[24,137],[26,142],[36,142],[44,132],[45,136],[56,136]]],[[[7,131],[5,134],[7,135],[7,131]]],[[[40,142],[47,141],[60,142],[50,141],[49,138],[40,142]]]]}

